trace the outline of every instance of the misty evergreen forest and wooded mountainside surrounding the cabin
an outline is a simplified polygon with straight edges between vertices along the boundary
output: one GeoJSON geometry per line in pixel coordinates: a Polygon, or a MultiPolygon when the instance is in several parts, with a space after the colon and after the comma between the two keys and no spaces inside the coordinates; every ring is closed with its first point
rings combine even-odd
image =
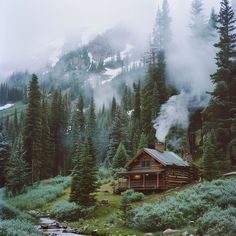
{"type": "MultiPolygon", "coordinates": [[[[201,163],[203,178],[212,180],[236,165],[236,22],[228,0],[222,0],[220,12],[212,10],[209,17],[203,9],[203,1],[193,0],[188,23],[193,43],[218,40],[217,68],[211,76],[214,88],[207,106],[188,107],[188,127],[172,126],[165,141],[182,156],[190,153],[201,163]]],[[[94,206],[99,168],[124,168],[140,149],[154,148],[158,141],[154,121],[163,105],[182,92],[172,83],[168,67],[173,20],[164,0],[142,63],[131,65],[131,58],[122,56],[124,48],[119,45],[115,50],[109,37],[101,35],[62,56],[48,75],[41,75],[43,79],[33,74],[29,80],[25,75],[27,89],[16,79],[20,75],[1,84],[0,105],[22,102],[26,109],[1,118],[0,186],[17,195],[40,180],[71,175],[70,200],[85,208],[94,206]],[[114,70],[120,73],[101,79],[114,70]],[[117,93],[98,106],[98,85],[109,83],[117,93]]],[[[125,200],[122,204],[125,212],[129,205],[125,200]]]]}

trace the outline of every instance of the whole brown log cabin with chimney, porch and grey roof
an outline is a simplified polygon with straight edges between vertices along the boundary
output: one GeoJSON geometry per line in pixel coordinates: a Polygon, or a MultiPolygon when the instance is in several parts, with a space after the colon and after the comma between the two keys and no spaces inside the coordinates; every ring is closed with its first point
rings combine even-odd
{"type": "Polygon", "coordinates": [[[158,191],[176,188],[199,180],[198,167],[174,152],[166,151],[164,144],[155,149],[140,150],[117,174],[116,191],[158,191]]]}

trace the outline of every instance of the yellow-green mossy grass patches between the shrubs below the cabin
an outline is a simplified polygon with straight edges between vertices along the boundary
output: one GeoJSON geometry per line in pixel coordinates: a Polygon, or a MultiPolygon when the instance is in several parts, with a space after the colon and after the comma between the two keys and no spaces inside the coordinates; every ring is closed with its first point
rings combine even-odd
{"type": "MultiPolygon", "coordinates": [[[[145,203],[154,203],[162,201],[167,196],[174,195],[176,192],[182,191],[183,189],[187,188],[189,188],[189,186],[184,186],[182,188],[166,192],[149,194],[145,196],[144,200],[132,203],[132,206],[133,208],[135,208],[145,203]]],[[[70,188],[67,188],[62,196],[46,204],[42,210],[47,211],[57,201],[68,200],[69,194],[70,188]]],[[[96,198],[98,205],[95,211],[90,214],[86,219],[78,219],[78,221],[69,222],[68,224],[71,228],[80,228],[88,234],[96,230],[99,235],[145,235],[145,233],[141,231],[123,226],[122,222],[119,220],[119,207],[122,195],[113,194],[113,189],[110,184],[102,185],[99,191],[96,193],[96,198]],[[102,205],[101,201],[103,199],[107,199],[109,204],[102,205]]],[[[182,235],[182,232],[185,231],[193,233],[193,228],[189,227],[186,229],[182,229],[180,232],[175,233],[173,235],[182,235]]],[[[157,232],[153,233],[152,235],[162,235],[162,233],[157,232]]]]}

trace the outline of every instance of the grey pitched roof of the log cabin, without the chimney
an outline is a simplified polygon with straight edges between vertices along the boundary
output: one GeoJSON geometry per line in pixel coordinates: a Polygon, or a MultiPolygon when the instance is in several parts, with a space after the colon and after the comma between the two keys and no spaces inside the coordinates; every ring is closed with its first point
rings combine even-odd
{"type": "Polygon", "coordinates": [[[156,149],[150,149],[150,148],[144,148],[138,154],[132,158],[125,167],[128,167],[134,159],[136,159],[142,152],[146,152],[151,157],[153,157],[155,160],[160,162],[164,166],[170,166],[170,165],[176,165],[176,166],[183,166],[183,167],[189,167],[190,164],[187,161],[184,161],[180,156],[175,154],[174,152],[170,151],[164,151],[159,152],[156,149]]]}

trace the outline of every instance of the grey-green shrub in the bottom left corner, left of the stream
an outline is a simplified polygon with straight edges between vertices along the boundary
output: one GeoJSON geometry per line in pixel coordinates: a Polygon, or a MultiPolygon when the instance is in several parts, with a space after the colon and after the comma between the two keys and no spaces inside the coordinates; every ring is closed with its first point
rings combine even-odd
{"type": "Polygon", "coordinates": [[[37,231],[34,225],[23,220],[3,220],[0,221],[1,236],[39,236],[42,235],[37,231]]]}

